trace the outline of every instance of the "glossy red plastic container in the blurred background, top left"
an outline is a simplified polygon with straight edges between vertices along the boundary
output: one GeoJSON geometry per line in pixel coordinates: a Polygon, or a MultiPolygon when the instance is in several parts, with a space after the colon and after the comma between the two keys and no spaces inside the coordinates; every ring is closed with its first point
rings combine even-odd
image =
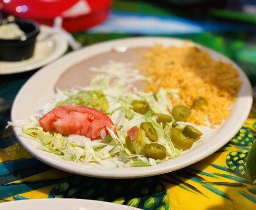
{"type": "Polygon", "coordinates": [[[5,13],[53,25],[63,17],[63,28],[81,31],[103,22],[110,12],[112,0],[0,0],[5,13]]]}

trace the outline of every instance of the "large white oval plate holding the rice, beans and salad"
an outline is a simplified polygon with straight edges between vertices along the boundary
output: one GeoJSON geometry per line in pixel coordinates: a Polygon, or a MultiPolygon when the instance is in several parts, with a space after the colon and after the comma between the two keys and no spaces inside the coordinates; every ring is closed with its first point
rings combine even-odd
{"type": "MultiPolygon", "coordinates": [[[[183,40],[160,37],[142,37],[126,38],[104,43],[91,45],[83,49],[74,51],[65,55],[61,59],[45,66],[37,71],[22,87],[15,98],[12,108],[12,121],[28,119],[34,111],[40,110],[43,105],[54,97],[54,86],[62,72],[77,62],[110,51],[116,47],[147,47],[154,43],[161,43],[164,46],[181,46],[183,40]]],[[[205,48],[206,49],[206,48],[205,48]]],[[[232,62],[215,51],[210,51],[214,59],[220,59],[224,62],[232,62]]],[[[37,149],[38,143],[33,140],[21,138],[18,128],[15,128],[15,134],[19,142],[35,158],[44,163],[75,174],[86,176],[104,177],[104,178],[133,178],[153,176],[181,169],[185,166],[198,162],[211,155],[224,144],[226,144],[242,127],[243,122],[247,119],[252,104],[252,89],[248,78],[244,72],[232,62],[238,70],[242,81],[242,88],[239,92],[237,101],[235,101],[232,114],[229,119],[219,125],[216,129],[204,128],[204,141],[195,143],[191,150],[180,155],[178,158],[160,163],[156,166],[149,167],[131,167],[131,168],[107,168],[103,166],[89,166],[80,163],[74,163],[61,160],[60,156],[47,153],[37,149]]]]}

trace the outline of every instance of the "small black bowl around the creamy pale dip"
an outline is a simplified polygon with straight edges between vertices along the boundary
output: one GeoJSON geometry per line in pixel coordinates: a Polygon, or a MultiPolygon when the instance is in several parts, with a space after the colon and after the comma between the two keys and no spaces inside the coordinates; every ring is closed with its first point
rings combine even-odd
{"type": "Polygon", "coordinates": [[[36,37],[40,32],[39,26],[29,20],[0,20],[0,25],[8,23],[16,23],[25,35],[17,39],[0,38],[0,60],[19,61],[31,58],[35,50],[36,37]]]}

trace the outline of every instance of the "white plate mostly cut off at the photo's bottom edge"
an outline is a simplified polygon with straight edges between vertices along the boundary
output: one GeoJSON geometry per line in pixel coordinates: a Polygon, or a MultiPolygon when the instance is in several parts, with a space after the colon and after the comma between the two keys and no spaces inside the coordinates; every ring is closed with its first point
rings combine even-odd
{"type": "Polygon", "coordinates": [[[140,210],[131,206],[86,199],[47,198],[0,203],[1,210],[140,210]]]}

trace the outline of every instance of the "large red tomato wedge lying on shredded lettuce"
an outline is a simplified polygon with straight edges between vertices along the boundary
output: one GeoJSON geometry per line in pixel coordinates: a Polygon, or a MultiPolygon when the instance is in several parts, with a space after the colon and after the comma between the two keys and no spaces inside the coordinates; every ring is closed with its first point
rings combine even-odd
{"type": "Polygon", "coordinates": [[[46,113],[39,123],[45,132],[84,135],[99,139],[102,129],[113,129],[114,123],[102,111],[85,106],[60,106],[46,113]]]}

